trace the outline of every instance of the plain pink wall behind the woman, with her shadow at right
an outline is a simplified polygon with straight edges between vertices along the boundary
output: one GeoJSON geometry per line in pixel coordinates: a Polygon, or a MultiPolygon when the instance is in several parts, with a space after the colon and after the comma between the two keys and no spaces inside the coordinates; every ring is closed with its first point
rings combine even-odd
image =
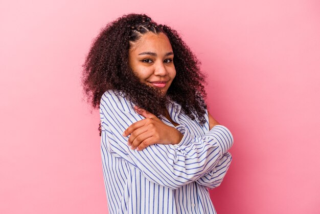
{"type": "Polygon", "coordinates": [[[209,75],[209,109],[235,139],[218,213],[320,213],[317,0],[84,2],[0,3],[0,213],[107,213],[80,73],[129,12],[178,30],[209,75]]]}

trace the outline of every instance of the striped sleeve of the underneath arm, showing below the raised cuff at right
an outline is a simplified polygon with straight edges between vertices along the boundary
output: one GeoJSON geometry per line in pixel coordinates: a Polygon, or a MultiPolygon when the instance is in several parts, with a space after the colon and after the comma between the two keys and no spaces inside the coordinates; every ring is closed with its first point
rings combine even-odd
{"type": "Polygon", "coordinates": [[[222,156],[216,167],[209,173],[206,173],[203,176],[201,176],[198,180],[196,180],[196,182],[200,185],[207,186],[210,189],[218,187],[221,184],[231,164],[231,161],[232,155],[229,152],[226,152],[222,156]]]}

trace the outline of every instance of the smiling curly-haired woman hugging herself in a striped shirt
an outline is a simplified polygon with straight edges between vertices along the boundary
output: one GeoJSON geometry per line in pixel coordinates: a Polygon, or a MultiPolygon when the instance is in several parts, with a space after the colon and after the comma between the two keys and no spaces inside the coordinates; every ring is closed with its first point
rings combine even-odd
{"type": "Polygon", "coordinates": [[[231,163],[231,132],[207,111],[199,62],[176,31],[145,14],[109,23],[83,86],[100,106],[110,213],[216,213],[208,188],[231,163]]]}

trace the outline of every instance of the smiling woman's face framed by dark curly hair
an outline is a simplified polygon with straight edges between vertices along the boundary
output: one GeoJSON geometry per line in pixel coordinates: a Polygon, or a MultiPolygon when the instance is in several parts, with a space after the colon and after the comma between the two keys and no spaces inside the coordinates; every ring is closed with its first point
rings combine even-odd
{"type": "Polygon", "coordinates": [[[172,47],[163,33],[146,33],[132,43],[129,64],[141,83],[164,93],[175,77],[172,47]]]}

